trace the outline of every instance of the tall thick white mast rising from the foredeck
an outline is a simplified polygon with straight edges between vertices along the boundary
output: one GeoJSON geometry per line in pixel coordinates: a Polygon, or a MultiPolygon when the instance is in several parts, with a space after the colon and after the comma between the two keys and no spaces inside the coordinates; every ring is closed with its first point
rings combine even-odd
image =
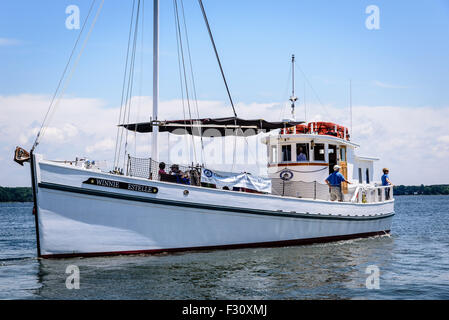
{"type": "MultiPolygon", "coordinates": [[[[154,19],[153,19],[153,121],[158,121],[159,105],[159,0],[154,0],[154,19]]],[[[159,127],[153,126],[151,157],[159,161],[158,151],[158,133],[159,127]]]]}

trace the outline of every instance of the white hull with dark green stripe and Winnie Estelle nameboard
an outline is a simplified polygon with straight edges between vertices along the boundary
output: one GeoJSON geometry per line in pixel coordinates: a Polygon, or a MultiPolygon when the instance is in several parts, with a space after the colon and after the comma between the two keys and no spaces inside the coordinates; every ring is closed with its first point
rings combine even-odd
{"type": "Polygon", "coordinates": [[[394,215],[393,201],[353,204],[248,194],[110,175],[41,159],[35,163],[42,257],[351,239],[389,232],[394,215]],[[89,179],[140,188],[86,183],[89,179]],[[142,192],[148,190],[144,187],[157,192],[142,192]]]}

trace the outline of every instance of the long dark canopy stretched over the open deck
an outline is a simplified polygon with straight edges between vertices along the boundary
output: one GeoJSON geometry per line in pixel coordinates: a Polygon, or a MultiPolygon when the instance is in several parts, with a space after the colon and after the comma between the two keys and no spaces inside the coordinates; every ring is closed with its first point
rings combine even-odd
{"type": "Polygon", "coordinates": [[[205,118],[188,120],[152,121],[120,126],[139,133],[153,132],[153,127],[159,127],[159,132],[169,132],[183,135],[212,136],[218,133],[224,135],[252,136],[261,132],[269,132],[276,129],[288,128],[304,122],[269,122],[263,119],[246,120],[236,117],[229,118],[205,118]]]}

